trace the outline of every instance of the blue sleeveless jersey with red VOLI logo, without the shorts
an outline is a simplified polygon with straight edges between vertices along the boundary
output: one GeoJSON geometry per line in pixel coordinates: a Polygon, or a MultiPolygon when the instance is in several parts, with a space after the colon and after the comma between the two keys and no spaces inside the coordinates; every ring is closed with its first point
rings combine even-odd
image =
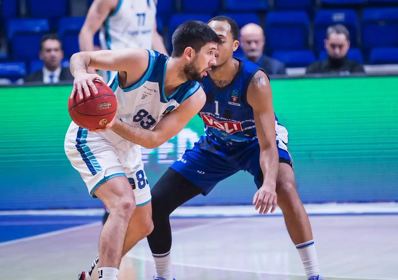
{"type": "Polygon", "coordinates": [[[205,123],[207,139],[201,139],[199,144],[202,149],[216,153],[257,140],[253,108],[247,103],[246,95],[254,75],[265,71],[249,60],[235,59],[240,65],[230,84],[218,88],[210,75],[204,76],[201,82],[207,100],[199,116],[205,123]]]}

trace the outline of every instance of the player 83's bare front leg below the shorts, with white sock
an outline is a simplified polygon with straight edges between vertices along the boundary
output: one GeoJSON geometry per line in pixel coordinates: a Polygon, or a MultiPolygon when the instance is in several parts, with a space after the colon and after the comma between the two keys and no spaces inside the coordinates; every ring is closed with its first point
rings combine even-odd
{"type": "Polygon", "coordinates": [[[135,196],[125,176],[109,179],[94,194],[111,212],[100,234],[98,277],[102,276],[102,280],[116,280],[127,227],[136,206],[135,196]]]}

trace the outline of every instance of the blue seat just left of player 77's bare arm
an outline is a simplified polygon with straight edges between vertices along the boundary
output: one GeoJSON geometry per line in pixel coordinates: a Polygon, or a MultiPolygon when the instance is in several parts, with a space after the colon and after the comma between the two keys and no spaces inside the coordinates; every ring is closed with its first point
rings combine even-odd
{"type": "Polygon", "coordinates": [[[78,36],[83,23],[84,17],[60,19],[58,34],[62,41],[62,49],[64,50],[65,57],[70,57],[75,52],[79,52],[78,36]]]}

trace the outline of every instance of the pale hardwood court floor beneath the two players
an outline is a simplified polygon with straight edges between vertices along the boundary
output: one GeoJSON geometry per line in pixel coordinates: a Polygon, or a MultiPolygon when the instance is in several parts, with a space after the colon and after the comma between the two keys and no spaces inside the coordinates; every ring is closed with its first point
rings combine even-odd
{"type": "MultiPolygon", "coordinates": [[[[311,216],[326,280],[398,279],[398,216],[311,216]]],[[[283,217],[172,219],[176,280],[305,280],[283,217]]],[[[100,223],[0,243],[2,279],[76,280],[98,250],[100,223]]],[[[146,239],[119,280],[152,280],[146,239]]]]}

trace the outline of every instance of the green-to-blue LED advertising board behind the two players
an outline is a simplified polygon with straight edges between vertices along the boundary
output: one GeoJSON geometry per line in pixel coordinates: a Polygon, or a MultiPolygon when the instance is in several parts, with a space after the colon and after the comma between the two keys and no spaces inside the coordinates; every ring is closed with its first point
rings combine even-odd
{"type": "MultiPolygon", "coordinates": [[[[397,77],[272,80],[271,86],[303,201],[398,200],[397,77]]],[[[70,90],[0,89],[0,209],[101,207],[64,154],[70,90]]],[[[203,133],[195,117],[159,148],[142,148],[150,185],[203,133]]],[[[240,172],[187,205],[251,204],[254,192],[253,178],[240,172]]]]}

